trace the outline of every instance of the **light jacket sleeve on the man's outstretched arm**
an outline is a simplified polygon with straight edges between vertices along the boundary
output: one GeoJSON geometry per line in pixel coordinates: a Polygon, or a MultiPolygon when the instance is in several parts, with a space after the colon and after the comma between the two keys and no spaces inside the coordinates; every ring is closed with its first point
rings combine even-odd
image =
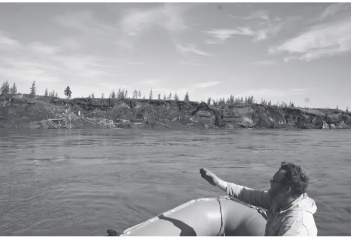
{"type": "Polygon", "coordinates": [[[226,194],[247,204],[269,210],[273,198],[268,192],[258,191],[234,183],[227,183],[226,194]]]}

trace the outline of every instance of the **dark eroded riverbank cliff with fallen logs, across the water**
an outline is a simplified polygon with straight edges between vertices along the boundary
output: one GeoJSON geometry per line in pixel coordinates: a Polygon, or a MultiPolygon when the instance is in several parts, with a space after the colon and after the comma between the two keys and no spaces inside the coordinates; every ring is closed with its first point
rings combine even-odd
{"type": "Polygon", "coordinates": [[[2,95],[0,127],[351,129],[351,113],[260,104],[214,107],[204,102],[174,100],[52,99],[2,95]]]}

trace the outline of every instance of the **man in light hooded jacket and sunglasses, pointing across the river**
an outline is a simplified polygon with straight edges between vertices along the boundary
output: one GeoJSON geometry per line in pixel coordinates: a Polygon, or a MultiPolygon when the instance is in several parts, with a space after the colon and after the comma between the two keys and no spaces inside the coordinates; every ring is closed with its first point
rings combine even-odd
{"type": "Polygon", "coordinates": [[[317,236],[313,217],[317,208],[306,194],[309,177],[299,165],[282,162],[267,192],[223,181],[204,168],[200,174],[227,195],[268,210],[265,236],[317,236]]]}

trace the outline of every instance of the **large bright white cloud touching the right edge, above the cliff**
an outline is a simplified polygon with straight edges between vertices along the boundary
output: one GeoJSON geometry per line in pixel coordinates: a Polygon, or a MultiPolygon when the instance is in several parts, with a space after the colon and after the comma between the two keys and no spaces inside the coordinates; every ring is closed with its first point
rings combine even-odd
{"type": "Polygon", "coordinates": [[[271,47],[270,54],[287,52],[290,59],[313,60],[345,53],[351,50],[351,16],[343,20],[312,27],[305,33],[271,47]]]}

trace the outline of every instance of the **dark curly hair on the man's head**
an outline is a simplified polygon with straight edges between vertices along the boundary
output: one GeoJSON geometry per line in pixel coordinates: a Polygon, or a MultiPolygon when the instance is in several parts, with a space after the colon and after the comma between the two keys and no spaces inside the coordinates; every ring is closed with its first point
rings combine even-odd
{"type": "Polygon", "coordinates": [[[306,173],[302,172],[301,166],[282,162],[280,169],[286,171],[282,182],[291,187],[293,194],[301,195],[306,192],[309,177],[306,173]]]}

